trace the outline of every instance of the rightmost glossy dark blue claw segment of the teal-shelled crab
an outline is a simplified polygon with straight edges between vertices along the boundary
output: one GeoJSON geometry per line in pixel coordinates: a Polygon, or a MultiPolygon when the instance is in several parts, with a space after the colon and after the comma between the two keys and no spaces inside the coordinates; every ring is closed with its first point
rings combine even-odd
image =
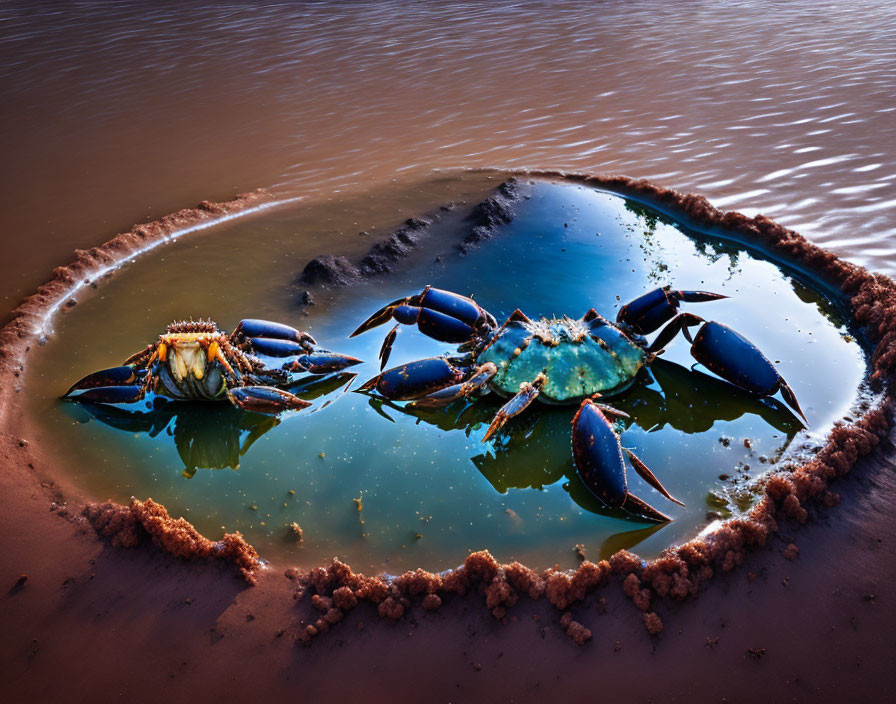
{"type": "Polygon", "coordinates": [[[781,391],[784,401],[807,422],[793,390],[768,358],[752,342],[727,325],[710,320],[694,336],[691,355],[703,366],[742,389],[771,396],[781,391]]]}

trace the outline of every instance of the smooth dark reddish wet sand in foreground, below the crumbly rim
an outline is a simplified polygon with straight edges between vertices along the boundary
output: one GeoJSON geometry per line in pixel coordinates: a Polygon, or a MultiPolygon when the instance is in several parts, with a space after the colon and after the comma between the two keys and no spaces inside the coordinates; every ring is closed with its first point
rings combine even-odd
{"type": "Polygon", "coordinates": [[[4,496],[25,509],[0,517],[2,578],[29,578],[0,606],[0,676],[12,701],[886,701],[896,526],[885,505],[896,487],[885,469],[840,482],[841,507],[784,538],[800,546],[795,561],[783,541],[750,557],[663,612],[656,640],[621,590],[604,615],[586,604],[576,612],[594,632],[584,648],[543,602],[523,600],[502,624],[478,595],[395,625],[359,609],[297,647],[293,584],[279,571],[246,588],[224,569],[110,550],[4,473],[4,496]],[[28,530],[16,521],[26,512],[28,530]]]}

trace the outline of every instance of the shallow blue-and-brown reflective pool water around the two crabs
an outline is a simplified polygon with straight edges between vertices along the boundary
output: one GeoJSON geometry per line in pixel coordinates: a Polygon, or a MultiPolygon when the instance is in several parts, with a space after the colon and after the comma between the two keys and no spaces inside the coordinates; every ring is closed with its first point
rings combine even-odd
{"type": "MultiPolygon", "coordinates": [[[[862,347],[837,304],[811,282],[733,241],[694,232],[646,205],[560,181],[521,181],[512,220],[466,255],[472,207],[503,177],[443,175],[299,204],[184,238],[129,263],[60,315],[29,371],[40,441],[98,500],[152,498],[217,536],[241,531],[268,559],[314,565],[339,556],[356,569],[398,572],[459,564],[488,548],[500,560],[572,565],[633,548],[649,558],[713,521],[749,508],[755,481],[782,457],[817,444],[849,412],[865,375],[862,347]],[[453,203],[450,211],[440,205],[453,203]],[[358,259],[410,216],[437,214],[430,234],[390,275],[310,289],[296,277],[327,252],[358,259]],[[174,320],[279,320],[378,372],[384,326],[348,339],[384,303],[426,284],[473,294],[499,322],[527,315],[609,319],[659,285],[729,298],[683,304],[752,340],[805,411],[803,431],[778,399],[758,399],[708,373],[682,338],[612,404],[633,449],[684,508],[629,472],[630,489],[674,520],[663,525],[607,510],[575,475],[575,406],[533,404],[492,441],[482,436],[502,400],[491,394],[442,411],[412,411],[345,392],[348,380],[306,391],[310,409],[271,419],[226,403],[147,398],[97,408],[58,400],[84,374],[115,366],[174,320]],[[303,529],[296,540],[289,524],[303,529]]],[[[453,351],[413,328],[390,366],[453,351]]]]}

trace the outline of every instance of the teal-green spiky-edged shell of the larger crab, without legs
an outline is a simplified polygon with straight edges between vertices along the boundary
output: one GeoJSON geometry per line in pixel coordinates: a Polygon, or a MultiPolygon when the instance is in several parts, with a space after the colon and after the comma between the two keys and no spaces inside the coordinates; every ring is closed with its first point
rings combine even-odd
{"type": "Polygon", "coordinates": [[[543,373],[539,400],[566,404],[623,391],[646,359],[642,347],[606,320],[541,318],[507,323],[486,341],[477,363],[495,364],[498,373],[489,385],[503,396],[543,373]]]}

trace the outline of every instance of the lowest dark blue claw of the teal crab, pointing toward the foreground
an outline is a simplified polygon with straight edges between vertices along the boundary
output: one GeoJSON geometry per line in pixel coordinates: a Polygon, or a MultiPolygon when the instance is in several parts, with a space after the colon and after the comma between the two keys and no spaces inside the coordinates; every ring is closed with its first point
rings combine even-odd
{"type": "MultiPolygon", "coordinates": [[[[613,412],[607,406],[603,409],[613,412]]],[[[585,399],[572,421],[572,454],[582,482],[608,506],[625,508],[629,513],[657,523],[671,521],[669,516],[629,492],[623,453],[628,455],[632,466],[648,484],[670,501],[684,505],[666,491],[634,452],[622,447],[619,435],[601,407],[591,399],[585,399]]]]}

